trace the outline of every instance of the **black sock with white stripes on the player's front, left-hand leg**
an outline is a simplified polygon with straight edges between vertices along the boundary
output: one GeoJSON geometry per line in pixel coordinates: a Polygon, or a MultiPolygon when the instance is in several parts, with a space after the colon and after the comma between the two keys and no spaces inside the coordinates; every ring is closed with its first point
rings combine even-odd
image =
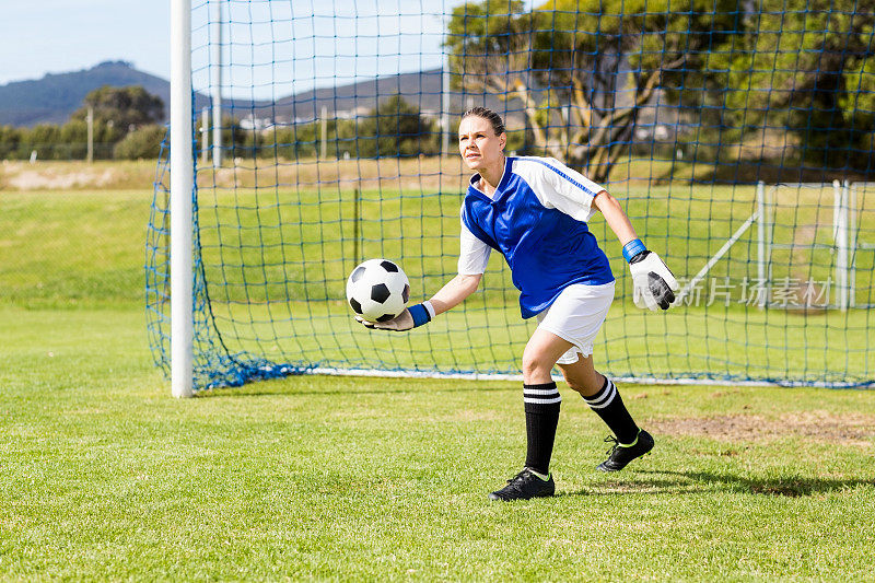
{"type": "Polygon", "coordinates": [[[540,474],[549,474],[562,397],[556,388],[556,383],[523,385],[523,401],[526,409],[528,445],[526,467],[540,474]]]}

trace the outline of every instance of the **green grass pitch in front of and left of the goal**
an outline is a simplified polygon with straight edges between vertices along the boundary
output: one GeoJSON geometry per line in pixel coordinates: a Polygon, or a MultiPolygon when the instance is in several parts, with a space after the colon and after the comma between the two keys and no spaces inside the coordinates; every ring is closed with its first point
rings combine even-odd
{"type": "MultiPolygon", "coordinates": [[[[607,476],[606,428],[563,390],[558,495],[489,503],[524,458],[516,382],[295,376],[172,399],[142,305],[150,199],[0,193],[0,580],[875,581],[875,392],[623,385],[657,446],[607,476]]],[[[785,317],[749,341],[800,341],[785,317]]],[[[695,311],[656,322],[725,346],[695,311]]],[[[841,351],[821,331],[795,366],[841,351]]]]}

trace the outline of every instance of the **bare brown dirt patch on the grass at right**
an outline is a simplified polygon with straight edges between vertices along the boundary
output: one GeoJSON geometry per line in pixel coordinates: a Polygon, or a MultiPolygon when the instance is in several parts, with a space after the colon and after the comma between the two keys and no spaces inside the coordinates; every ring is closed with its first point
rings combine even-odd
{"type": "Polygon", "coordinates": [[[784,413],[777,418],[759,415],[723,415],[664,419],[650,423],[664,435],[700,435],[721,441],[772,441],[788,435],[843,445],[872,445],[875,416],[836,415],[826,411],[784,413]]]}

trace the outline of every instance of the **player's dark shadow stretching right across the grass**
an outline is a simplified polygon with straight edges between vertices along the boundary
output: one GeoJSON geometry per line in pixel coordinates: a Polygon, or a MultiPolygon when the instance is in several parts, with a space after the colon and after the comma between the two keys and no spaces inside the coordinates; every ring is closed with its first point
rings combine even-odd
{"type": "Polygon", "coordinates": [[[576,492],[560,495],[615,495],[628,493],[700,493],[713,490],[801,498],[819,493],[838,492],[860,486],[875,487],[875,479],[810,478],[785,476],[758,478],[711,471],[639,470],[638,476],[595,485],[576,492]]]}

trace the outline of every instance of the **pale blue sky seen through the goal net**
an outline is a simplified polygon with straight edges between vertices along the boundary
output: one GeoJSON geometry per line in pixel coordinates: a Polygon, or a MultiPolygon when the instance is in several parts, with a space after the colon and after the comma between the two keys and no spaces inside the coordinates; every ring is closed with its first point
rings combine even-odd
{"type": "Polygon", "coordinates": [[[446,12],[459,0],[196,0],[191,14],[192,84],[210,84],[206,48],[223,21],[225,94],[279,97],[313,86],[442,66],[446,12]]]}

